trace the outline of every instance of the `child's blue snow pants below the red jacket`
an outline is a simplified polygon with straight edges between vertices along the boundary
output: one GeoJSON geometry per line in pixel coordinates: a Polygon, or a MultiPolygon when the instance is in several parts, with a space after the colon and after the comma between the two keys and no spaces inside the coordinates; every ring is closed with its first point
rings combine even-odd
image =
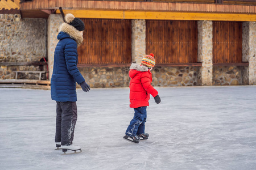
{"type": "Polygon", "coordinates": [[[147,107],[134,108],[134,117],[131,120],[125,134],[135,136],[145,133],[145,122],[147,121],[147,107]]]}

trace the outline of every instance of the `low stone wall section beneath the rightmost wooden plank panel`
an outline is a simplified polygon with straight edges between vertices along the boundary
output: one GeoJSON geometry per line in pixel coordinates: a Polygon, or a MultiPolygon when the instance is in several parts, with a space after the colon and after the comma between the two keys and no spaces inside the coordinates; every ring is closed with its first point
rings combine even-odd
{"type": "Polygon", "coordinates": [[[243,66],[213,66],[213,86],[237,86],[242,82],[243,66]]]}

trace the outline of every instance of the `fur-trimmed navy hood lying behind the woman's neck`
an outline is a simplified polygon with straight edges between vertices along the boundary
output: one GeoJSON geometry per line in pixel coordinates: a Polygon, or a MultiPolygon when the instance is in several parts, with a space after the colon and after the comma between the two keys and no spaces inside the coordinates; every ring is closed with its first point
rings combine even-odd
{"type": "Polygon", "coordinates": [[[82,37],[80,31],[78,31],[75,27],[67,23],[63,23],[60,25],[59,30],[60,30],[60,33],[57,36],[58,40],[70,37],[71,39],[76,41],[77,46],[82,44],[82,41],[84,40],[84,38],[82,37]]]}

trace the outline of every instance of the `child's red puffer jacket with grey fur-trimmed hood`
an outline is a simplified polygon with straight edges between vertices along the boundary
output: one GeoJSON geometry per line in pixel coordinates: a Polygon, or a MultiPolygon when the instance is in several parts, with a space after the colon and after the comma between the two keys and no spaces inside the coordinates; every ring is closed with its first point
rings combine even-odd
{"type": "Polygon", "coordinates": [[[151,86],[152,74],[145,66],[135,63],[131,64],[129,76],[130,81],[130,107],[138,108],[149,106],[150,95],[155,97],[158,91],[151,86]]]}

